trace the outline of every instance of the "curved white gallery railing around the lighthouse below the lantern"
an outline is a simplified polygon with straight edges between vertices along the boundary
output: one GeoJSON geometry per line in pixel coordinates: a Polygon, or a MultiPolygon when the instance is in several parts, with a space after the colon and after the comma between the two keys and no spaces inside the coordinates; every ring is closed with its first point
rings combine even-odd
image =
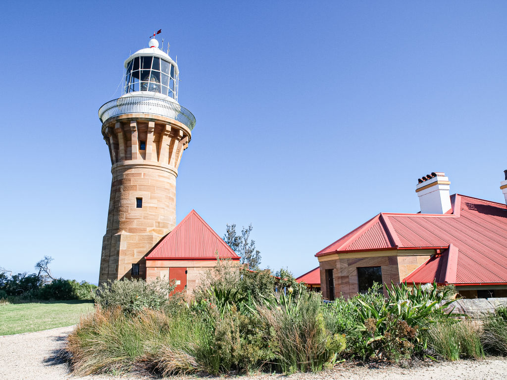
{"type": "Polygon", "coordinates": [[[183,123],[190,130],[195,127],[195,117],[187,108],[169,100],[148,96],[126,96],[108,101],[99,108],[98,118],[103,123],[125,113],[153,113],[183,123]]]}

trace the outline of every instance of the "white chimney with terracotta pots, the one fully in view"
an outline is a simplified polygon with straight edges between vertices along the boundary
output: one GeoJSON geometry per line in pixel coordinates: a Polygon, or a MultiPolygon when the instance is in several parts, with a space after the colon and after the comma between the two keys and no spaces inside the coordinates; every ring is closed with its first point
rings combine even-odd
{"type": "MultiPolygon", "coordinates": [[[[421,214],[445,214],[451,209],[451,182],[445,173],[432,172],[419,178],[418,182],[415,192],[421,204],[421,214]]],[[[507,184],[507,181],[505,183],[507,184]]]]}

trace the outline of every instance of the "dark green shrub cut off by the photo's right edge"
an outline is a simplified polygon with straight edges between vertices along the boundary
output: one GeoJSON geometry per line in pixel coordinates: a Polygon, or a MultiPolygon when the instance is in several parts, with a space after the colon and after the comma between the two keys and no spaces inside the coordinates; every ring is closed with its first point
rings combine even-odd
{"type": "Polygon", "coordinates": [[[498,308],[484,321],[481,340],[488,353],[507,355],[507,308],[498,308]]]}

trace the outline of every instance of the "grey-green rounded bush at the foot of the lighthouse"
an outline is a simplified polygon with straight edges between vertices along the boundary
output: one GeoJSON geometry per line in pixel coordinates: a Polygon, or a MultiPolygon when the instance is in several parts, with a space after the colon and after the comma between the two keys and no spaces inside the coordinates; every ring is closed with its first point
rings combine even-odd
{"type": "Polygon", "coordinates": [[[160,278],[150,282],[140,279],[110,280],[96,292],[95,303],[104,309],[120,308],[125,314],[144,309],[172,313],[182,304],[180,293],[169,296],[175,287],[174,280],[160,278]]]}

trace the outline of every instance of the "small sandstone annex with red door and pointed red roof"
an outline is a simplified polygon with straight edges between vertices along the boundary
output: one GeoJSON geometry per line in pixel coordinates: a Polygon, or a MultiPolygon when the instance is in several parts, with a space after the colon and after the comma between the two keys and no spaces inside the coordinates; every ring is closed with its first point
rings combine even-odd
{"type": "Polygon", "coordinates": [[[160,240],[146,256],[146,279],[166,277],[176,281],[176,291],[191,293],[214,267],[217,258],[240,257],[192,210],[174,230],[160,240]]]}

